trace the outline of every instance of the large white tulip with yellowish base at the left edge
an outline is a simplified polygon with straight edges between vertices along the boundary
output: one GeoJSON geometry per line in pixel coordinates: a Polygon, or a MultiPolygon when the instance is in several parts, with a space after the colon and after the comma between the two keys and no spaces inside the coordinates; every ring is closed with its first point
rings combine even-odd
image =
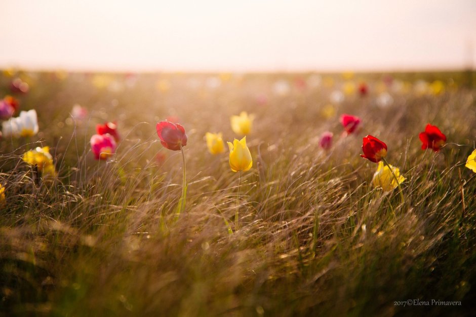
{"type": "Polygon", "coordinates": [[[38,133],[38,118],[35,110],[21,111],[20,116],[2,123],[4,137],[32,137],[38,133]]]}

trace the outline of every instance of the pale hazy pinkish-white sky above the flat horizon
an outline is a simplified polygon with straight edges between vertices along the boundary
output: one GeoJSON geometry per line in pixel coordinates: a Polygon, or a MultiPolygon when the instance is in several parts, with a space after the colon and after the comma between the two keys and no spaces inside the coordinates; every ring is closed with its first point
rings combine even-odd
{"type": "Polygon", "coordinates": [[[245,72],[471,65],[473,0],[0,0],[0,68],[245,72]]]}

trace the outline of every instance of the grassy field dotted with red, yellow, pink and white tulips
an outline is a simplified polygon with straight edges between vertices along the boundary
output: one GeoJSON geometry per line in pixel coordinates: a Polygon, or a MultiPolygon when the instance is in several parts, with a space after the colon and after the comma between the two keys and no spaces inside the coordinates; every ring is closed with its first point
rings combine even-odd
{"type": "Polygon", "coordinates": [[[471,315],[471,82],[5,70],[0,316],[471,315]]]}

